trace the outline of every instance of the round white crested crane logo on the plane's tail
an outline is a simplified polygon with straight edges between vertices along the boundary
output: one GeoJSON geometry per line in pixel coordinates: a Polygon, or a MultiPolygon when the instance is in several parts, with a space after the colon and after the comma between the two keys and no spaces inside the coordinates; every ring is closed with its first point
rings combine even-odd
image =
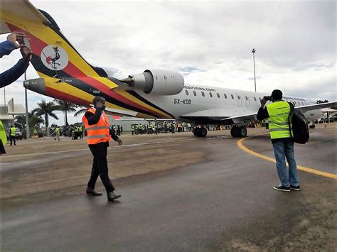
{"type": "Polygon", "coordinates": [[[63,70],[69,62],[68,54],[58,45],[47,45],[41,52],[43,65],[50,70],[63,70]]]}

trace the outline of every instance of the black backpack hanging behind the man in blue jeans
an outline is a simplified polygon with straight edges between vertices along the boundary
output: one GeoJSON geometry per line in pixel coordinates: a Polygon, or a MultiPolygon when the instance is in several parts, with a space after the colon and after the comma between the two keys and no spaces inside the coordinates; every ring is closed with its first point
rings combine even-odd
{"type": "Polygon", "coordinates": [[[309,127],[306,118],[301,111],[295,110],[294,105],[289,103],[289,129],[292,140],[295,143],[304,144],[309,141],[309,127]]]}

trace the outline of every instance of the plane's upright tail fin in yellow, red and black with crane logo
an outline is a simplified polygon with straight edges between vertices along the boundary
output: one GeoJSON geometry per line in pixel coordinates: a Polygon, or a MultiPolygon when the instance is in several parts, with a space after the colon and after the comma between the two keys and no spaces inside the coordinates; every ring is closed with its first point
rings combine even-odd
{"type": "Polygon", "coordinates": [[[31,63],[41,77],[107,77],[105,70],[93,67],[77,52],[46,11],[28,0],[5,0],[0,13],[0,33],[26,34],[25,43],[33,52],[31,63]]]}

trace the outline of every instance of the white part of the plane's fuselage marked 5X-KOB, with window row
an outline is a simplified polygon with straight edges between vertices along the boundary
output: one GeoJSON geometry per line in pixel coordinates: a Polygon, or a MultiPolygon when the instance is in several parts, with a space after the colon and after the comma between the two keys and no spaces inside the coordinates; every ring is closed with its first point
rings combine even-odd
{"type": "MultiPolygon", "coordinates": [[[[151,95],[139,92],[149,102],[164,109],[175,119],[182,116],[225,118],[256,113],[261,106],[260,99],[270,94],[221,87],[206,87],[185,84],[183,91],[176,95],[151,95]]],[[[296,106],[315,104],[311,99],[284,95],[284,101],[296,106]]],[[[318,119],[321,111],[316,109],[305,113],[307,120],[318,119]]]]}

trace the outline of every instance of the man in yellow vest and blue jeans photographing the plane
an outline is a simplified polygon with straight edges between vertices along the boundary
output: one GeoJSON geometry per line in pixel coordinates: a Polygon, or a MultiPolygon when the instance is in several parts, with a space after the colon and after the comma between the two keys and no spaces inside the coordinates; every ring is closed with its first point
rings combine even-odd
{"type": "Polygon", "coordinates": [[[270,138],[274,148],[276,168],[281,185],[274,186],[274,190],[289,192],[299,191],[299,180],[297,175],[296,161],[294,157],[294,141],[289,129],[289,113],[291,103],[282,101],[282,92],[275,89],[271,97],[263,97],[261,107],[257,112],[257,120],[268,119],[270,138]],[[266,104],[268,100],[272,104],[266,104]],[[265,106],[264,106],[265,105],[265,106]],[[286,167],[286,158],[289,170],[286,167]]]}

